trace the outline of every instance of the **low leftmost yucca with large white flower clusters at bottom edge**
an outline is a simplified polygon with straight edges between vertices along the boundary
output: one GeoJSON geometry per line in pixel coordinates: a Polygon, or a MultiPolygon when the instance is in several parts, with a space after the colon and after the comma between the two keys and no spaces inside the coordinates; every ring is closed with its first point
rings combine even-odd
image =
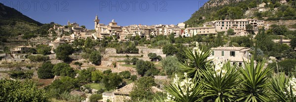
{"type": "Polygon", "coordinates": [[[199,80],[187,77],[180,79],[177,75],[169,85],[164,86],[167,91],[166,102],[200,102],[202,101],[200,94],[203,88],[202,82],[199,80]]]}

